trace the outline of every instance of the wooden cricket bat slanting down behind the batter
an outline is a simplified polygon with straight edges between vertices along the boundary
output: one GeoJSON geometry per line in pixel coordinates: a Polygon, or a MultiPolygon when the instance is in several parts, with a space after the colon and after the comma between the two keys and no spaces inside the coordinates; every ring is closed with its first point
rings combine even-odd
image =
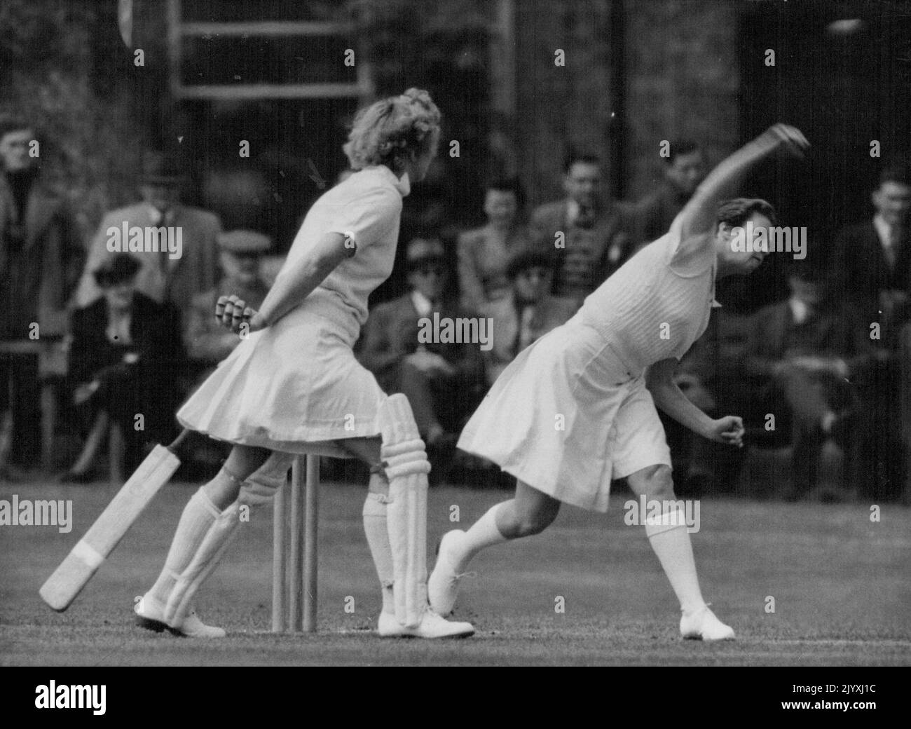
{"type": "Polygon", "coordinates": [[[76,600],[159,488],[168,483],[180,465],[174,449],[188,433],[184,430],[169,447],[152,449],[86,535],[70,550],[67,559],[47,578],[38,592],[54,610],[63,612],[76,600]]]}

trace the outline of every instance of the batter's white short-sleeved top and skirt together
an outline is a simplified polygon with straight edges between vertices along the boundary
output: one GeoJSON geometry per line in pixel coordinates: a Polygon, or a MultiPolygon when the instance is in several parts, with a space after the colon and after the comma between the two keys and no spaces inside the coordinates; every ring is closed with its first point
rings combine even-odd
{"type": "Polygon", "coordinates": [[[407,175],[378,165],[313,203],[278,278],[306,262],[327,232],[351,236],[355,253],[299,306],[238,344],[180,408],[183,426],[230,443],[338,456],[350,454],[333,441],[379,434],[385,395],[352,348],[367,297],[393,270],[408,192],[407,175]]]}

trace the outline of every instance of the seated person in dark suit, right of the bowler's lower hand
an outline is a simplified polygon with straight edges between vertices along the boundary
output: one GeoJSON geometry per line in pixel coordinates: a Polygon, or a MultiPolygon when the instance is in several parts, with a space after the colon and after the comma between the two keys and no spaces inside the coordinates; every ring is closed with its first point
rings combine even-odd
{"type": "MultiPolygon", "coordinates": [[[[849,307],[826,297],[818,272],[795,268],[791,297],[756,314],[745,369],[760,388],[761,411],[775,428],[790,426],[792,483],[789,498],[816,485],[822,448],[834,437],[846,460],[854,444],[858,392],[852,384],[873,358],[867,328],[849,307]]],[[[851,485],[851,488],[856,488],[851,485]]]]}

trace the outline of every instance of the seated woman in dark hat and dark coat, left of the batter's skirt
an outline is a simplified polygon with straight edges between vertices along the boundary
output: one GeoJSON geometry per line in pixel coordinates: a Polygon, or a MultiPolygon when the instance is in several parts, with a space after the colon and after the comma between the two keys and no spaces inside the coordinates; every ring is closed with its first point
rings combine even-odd
{"type": "MultiPolygon", "coordinates": [[[[129,253],[115,253],[93,272],[103,295],[73,314],[68,375],[73,401],[87,421],[104,411],[119,426],[128,470],[138,466],[149,444],[175,435],[185,362],[179,311],[138,293],[140,267],[129,253]]],[[[88,474],[69,477],[84,480],[88,474]]]]}

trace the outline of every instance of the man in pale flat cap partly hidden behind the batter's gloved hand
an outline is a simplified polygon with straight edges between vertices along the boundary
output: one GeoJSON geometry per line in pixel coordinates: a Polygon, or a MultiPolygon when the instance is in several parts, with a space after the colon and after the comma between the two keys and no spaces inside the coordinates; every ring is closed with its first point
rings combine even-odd
{"type": "Polygon", "coordinates": [[[209,291],[193,297],[185,332],[189,358],[207,369],[220,363],[241,341],[212,316],[219,296],[236,293],[259,309],[269,293],[260,272],[262,255],[271,249],[268,236],[256,231],[220,233],[219,247],[224,275],[209,291]]]}

